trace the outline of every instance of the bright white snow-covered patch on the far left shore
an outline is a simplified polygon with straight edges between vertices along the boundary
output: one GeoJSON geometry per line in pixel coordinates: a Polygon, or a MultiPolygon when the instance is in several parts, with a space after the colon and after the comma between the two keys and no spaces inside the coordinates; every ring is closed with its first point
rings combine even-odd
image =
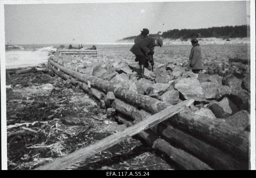
{"type": "Polygon", "coordinates": [[[48,61],[48,53],[50,50],[56,51],[56,48],[44,47],[38,48],[36,51],[6,51],[5,67],[6,69],[15,69],[19,67],[34,67],[48,61]]]}

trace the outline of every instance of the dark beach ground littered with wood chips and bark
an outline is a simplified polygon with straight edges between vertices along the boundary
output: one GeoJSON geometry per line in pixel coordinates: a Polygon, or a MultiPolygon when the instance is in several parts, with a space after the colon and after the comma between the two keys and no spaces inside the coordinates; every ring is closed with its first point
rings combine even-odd
{"type": "MultiPolygon", "coordinates": [[[[34,169],[126,128],[113,118],[106,118],[106,110],[87,94],[66,88],[47,73],[6,75],[6,85],[10,86],[6,89],[9,170],[34,169]]],[[[69,169],[179,167],[137,137],[131,137],[69,169]]]]}

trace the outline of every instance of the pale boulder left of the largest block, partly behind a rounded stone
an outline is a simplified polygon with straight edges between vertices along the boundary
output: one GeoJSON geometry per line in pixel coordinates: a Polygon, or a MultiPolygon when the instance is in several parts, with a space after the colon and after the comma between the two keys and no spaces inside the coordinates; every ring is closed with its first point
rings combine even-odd
{"type": "Polygon", "coordinates": [[[152,98],[156,98],[158,100],[161,99],[161,95],[167,91],[167,89],[172,90],[173,87],[169,84],[162,84],[157,83],[149,86],[146,90],[147,95],[151,96],[152,98]]]}

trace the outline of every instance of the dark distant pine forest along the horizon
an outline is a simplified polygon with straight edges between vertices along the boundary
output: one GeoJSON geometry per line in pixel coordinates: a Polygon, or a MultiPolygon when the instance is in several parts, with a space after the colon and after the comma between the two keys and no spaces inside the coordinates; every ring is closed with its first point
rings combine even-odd
{"type": "MultiPolygon", "coordinates": [[[[250,30],[250,27],[249,27],[250,30]]],[[[243,38],[247,37],[247,26],[221,26],[221,27],[211,27],[211,28],[199,28],[199,29],[173,29],[168,30],[167,32],[158,32],[156,34],[149,34],[149,37],[160,36],[162,38],[171,38],[171,39],[181,39],[187,40],[191,38],[243,38]]],[[[250,33],[250,32],[249,32],[250,33]]],[[[136,36],[130,36],[123,38],[122,40],[132,40],[136,36]]]]}

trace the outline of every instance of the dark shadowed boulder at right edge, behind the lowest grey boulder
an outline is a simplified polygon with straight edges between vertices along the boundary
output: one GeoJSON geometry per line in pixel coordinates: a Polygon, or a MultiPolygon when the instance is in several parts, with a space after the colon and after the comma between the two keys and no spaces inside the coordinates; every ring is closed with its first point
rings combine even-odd
{"type": "Polygon", "coordinates": [[[236,106],[239,108],[239,110],[249,109],[249,95],[243,91],[243,90],[233,90],[230,93],[230,100],[236,104],[236,106]]]}

